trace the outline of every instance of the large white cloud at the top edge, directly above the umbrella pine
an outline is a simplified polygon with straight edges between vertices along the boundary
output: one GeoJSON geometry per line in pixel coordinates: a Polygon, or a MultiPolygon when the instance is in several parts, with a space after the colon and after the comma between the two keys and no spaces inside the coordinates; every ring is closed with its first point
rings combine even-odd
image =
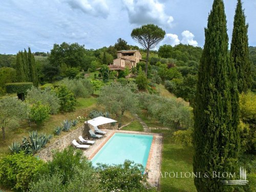
{"type": "Polygon", "coordinates": [[[122,0],[131,24],[153,23],[162,27],[172,26],[174,18],[164,12],[164,4],[158,0],[122,0]]]}

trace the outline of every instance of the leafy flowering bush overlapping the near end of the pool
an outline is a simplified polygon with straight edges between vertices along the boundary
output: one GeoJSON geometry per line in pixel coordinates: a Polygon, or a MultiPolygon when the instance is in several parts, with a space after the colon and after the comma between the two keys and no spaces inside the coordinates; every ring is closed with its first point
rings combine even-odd
{"type": "Polygon", "coordinates": [[[144,167],[126,160],[119,165],[99,164],[96,168],[99,174],[100,191],[152,191],[146,175],[142,175],[144,167]]]}

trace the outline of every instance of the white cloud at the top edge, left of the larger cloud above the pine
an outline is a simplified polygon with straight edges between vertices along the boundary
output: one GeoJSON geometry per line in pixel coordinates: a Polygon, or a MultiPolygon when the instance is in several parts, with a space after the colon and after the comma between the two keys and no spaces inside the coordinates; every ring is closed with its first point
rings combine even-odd
{"type": "Polygon", "coordinates": [[[108,17],[110,10],[105,0],[65,0],[72,9],[79,9],[96,17],[108,17]]]}

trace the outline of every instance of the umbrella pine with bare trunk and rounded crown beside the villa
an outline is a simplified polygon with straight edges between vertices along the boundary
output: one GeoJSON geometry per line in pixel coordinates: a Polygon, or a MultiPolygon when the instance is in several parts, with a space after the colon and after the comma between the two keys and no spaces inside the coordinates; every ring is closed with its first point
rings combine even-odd
{"type": "Polygon", "coordinates": [[[165,31],[157,25],[147,24],[139,28],[135,28],[131,36],[137,41],[143,48],[146,49],[146,66],[145,74],[147,76],[147,64],[150,56],[150,50],[155,48],[161,40],[163,40],[165,31]]]}

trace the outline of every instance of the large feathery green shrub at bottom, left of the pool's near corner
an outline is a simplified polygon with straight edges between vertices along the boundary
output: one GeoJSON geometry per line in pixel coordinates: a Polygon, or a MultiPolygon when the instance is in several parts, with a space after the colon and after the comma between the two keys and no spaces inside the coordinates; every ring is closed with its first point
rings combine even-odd
{"type": "Polygon", "coordinates": [[[55,153],[53,160],[39,171],[30,191],[98,192],[98,176],[81,150],[68,147],[55,153]]]}

